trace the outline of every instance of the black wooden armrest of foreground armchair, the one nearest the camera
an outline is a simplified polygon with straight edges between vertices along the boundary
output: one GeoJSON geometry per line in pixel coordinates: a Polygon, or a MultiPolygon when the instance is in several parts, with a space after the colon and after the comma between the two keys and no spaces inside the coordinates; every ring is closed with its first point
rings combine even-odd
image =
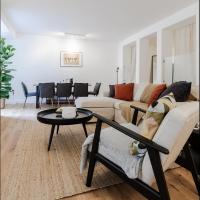
{"type": "Polygon", "coordinates": [[[99,135],[100,135],[100,131],[101,131],[101,125],[99,124],[102,124],[102,122],[108,124],[109,126],[113,127],[114,129],[120,131],[121,133],[141,142],[142,144],[146,145],[147,148],[151,148],[151,149],[154,149],[158,152],[161,152],[161,153],[164,153],[164,154],[169,154],[169,151],[168,149],[160,146],[159,144],[153,142],[152,140],[149,140],[147,138],[145,138],[144,136],[124,127],[124,126],[121,126],[120,124],[116,123],[116,122],[113,122],[109,119],[106,119],[105,117],[101,116],[101,115],[98,115],[96,113],[93,113],[93,116],[96,117],[98,120],[97,120],[97,127],[98,128],[98,131],[95,131],[95,137],[98,137],[99,138],[99,135]],[[97,136],[98,135],[98,136],[97,136]]]}

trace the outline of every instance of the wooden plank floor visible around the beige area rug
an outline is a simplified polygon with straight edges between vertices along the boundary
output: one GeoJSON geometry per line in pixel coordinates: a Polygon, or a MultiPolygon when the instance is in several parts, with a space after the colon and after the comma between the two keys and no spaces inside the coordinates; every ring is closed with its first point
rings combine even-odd
{"type": "MultiPolygon", "coordinates": [[[[34,105],[27,105],[25,109],[21,104],[8,105],[6,109],[1,110],[1,117],[13,117],[18,119],[35,120],[36,113],[39,110],[34,105]]],[[[15,129],[15,124],[6,124],[10,129],[15,129]]],[[[90,125],[91,126],[91,125],[90,125]]],[[[1,181],[6,175],[6,166],[12,160],[15,152],[20,132],[16,128],[16,134],[10,135],[4,133],[4,127],[1,126],[1,181]],[[3,167],[2,167],[3,166],[3,167]],[[4,170],[2,170],[4,169],[4,170]]],[[[166,180],[172,200],[199,200],[192,176],[189,171],[179,167],[169,170],[165,173],[166,180]]],[[[105,189],[64,198],[65,200],[144,200],[141,194],[136,192],[126,183],[111,186],[105,189]]]]}

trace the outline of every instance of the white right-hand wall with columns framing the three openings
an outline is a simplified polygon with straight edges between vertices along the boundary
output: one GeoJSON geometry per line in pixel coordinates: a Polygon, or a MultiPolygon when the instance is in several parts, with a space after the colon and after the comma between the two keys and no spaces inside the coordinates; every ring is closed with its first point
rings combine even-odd
{"type": "MultiPolygon", "coordinates": [[[[169,26],[172,26],[176,23],[179,23],[183,20],[186,20],[188,18],[191,17],[196,17],[196,34],[197,34],[197,38],[196,38],[196,43],[197,43],[197,50],[196,50],[196,65],[195,65],[195,69],[196,69],[196,82],[195,84],[199,84],[199,2],[184,8],[176,13],[174,13],[173,15],[162,19],[160,21],[158,21],[155,24],[152,24],[151,26],[148,26],[147,28],[141,30],[140,32],[126,38],[125,40],[123,40],[120,44],[120,48],[121,48],[121,57],[122,57],[122,50],[123,47],[126,45],[129,45],[133,42],[136,42],[136,82],[141,82],[141,77],[142,77],[142,73],[143,70],[140,69],[140,64],[141,64],[141,60],[142,60],[142,49],[141,46],[142,45],[142,38],[145,38],[153,33],[157,33],[157,82],[160,83],[163,81],[163,30],[168,28],[169,26]]],[[[119,67],[122,68],[123,66],[123,62],[122,59],[120,60],[119,63],[119,67]]]]}

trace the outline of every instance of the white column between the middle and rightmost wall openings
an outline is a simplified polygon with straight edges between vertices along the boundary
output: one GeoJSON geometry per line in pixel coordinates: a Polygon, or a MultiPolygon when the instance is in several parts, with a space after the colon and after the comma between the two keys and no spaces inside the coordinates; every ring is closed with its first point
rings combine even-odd
{"type": "Polygon", "coordinates": [[[163,82],[163,31],[157,32],[157,71],[156,71],[156,82],[163,82]]]}

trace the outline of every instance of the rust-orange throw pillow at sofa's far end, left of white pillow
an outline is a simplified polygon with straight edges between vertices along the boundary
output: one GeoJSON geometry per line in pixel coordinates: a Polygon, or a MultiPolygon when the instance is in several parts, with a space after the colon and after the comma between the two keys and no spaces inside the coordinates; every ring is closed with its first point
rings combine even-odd
{"type": "Polygon", "coordinates": [[[115,85],[115,98],[125,101],[133,100],[134,83],[115,85]]]}

